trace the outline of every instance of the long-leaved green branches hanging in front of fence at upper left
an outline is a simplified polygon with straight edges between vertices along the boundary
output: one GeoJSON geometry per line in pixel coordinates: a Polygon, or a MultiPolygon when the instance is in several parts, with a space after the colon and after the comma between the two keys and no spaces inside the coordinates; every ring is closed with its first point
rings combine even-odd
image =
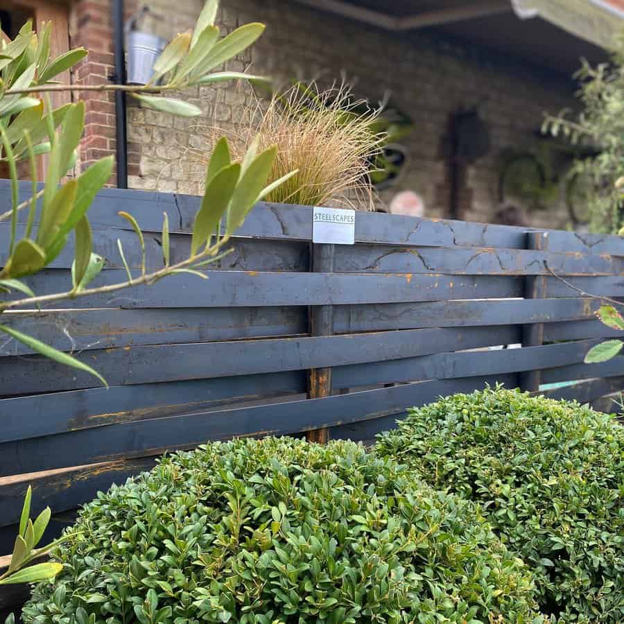
{"type": "MultiPolygon", "coordinates": [[[[219,31],[214,26],[218,0],[208,0],[202,10],[195,31],[182,33],[166,46],[155,63],[155,75],[146,87],[126,85],[96,85],[86,87],[100,90],[123,89],[139,98],[143,105],[165,112],[193,116],[200,114],[195,105],[154,95],[142,95],[141,91],[166,92],[212,81],[241,78],[239,73],[209,73],[219,64],[226,62],[243,51],[262,34],[262,24],[246,24],[219,40],[219,31]],[[159,84],[165,81],[164,84],[159,84]]],[[[261,153],[256,149],[248,157],[249,175],[242,167],[232,164],[229,173],[223,175],[220,158],[229,148],[221,143],[221,150],[211,159],[209,173],[216,175],[207,184],[202,209],[196,220],[199,232],[193,232],[193,248],[189,258],[170,266],[168,221],[163,222],[162,248],[164,268],[148,274],[146,272],[145,245],[139,224],[132,215],[120,212],[119,215],[130,222],[137,234],[143,260],[141,275],[133,277],[120,241],[117,241],[119,255],[125,267],[128,281],[87,289],[104,266],[105,258],[92,249],[92,233],[87,212],[96,193],[109,180],[112,173],[112,157],[94,163],[78,177],[63,181],[76,162],[76,154],[83,135],[85,104],[81,101],[52,110],[49,99],[39,99],[42,92],[72,90],[71,85],[49,84],[49,81],[81,60],[87,54],[84,49],[71,50],[57,59],[49,58],[51,24],[43,24],[40,33],[33,32],[31,22],[24,25],[15,40],[0,44],[0,160],[7,162],[11,177],[10,210],[0,214],[0,221],[9,219],[10,244],[0,261],[0,292],[13,295],[15,292],[27,295],[22,300],[0,301],[0,313],[15,307],[38,306],[42,301],[55,301],[80,295],[110,292],[135,286],[152,284],[166,275],[178,272],[191,272],[205,277],[195,269],[214,261],[218,252],[227,243],[229,236],[239,227],[255,202],[266,193],[275,190],[295,172],[288,172],[279,180],[269,180],[270,170],[275,160],[275,147],[267,146],[261,153]],[[30,94],[36,95],[32,97],[30,94]],[[37,191],[37,164],[35,155],[49,152],[45,187],[37,191]],[[19,203],[17,163],[28,159],[33,180],[32,198],[19,203]],[[270,182],[270,184],[268,184],[270,182]],[[42,198],[41,207],[37,199],[42,198]],[[218,201],[216,200],[218,199],[218,201]],[[23,234],[18,236],[18,214],[28,209],[28,219],[23,234]],[[226,235],[218,233],[219,223],[227,221],[226,235]],[[36,227],[35,227],[36,226],[36,227]],[[37,297],[28,285],[20,279],[40,272],[62,252],[69,235],[74,234],[75,259],[71,266],[71,288],[64,293],[53,293],[37,297]],[[216,241],[214,235],[216,234],[216,241]],[[197,243],[197,244],[195,244],[197,243]]],[[[250,76],[259,80],[257,76],[250,76]]],[[[243,162],[244,164],[244,162],[243,162]]],[[[31,336],[0,324],[0,331],[8,333],[15,340],[24,343],[34,352],[49,357],[59,363],[78,368],[96,376],[102,383],[105,380],[91,367],[81,363],[69,354],[59,352],[31,336]]]]}

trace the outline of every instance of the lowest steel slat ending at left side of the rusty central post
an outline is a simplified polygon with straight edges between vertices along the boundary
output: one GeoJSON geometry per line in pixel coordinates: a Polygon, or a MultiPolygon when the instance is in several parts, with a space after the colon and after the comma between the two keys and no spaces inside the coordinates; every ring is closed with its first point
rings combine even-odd
{"type": "Polygon", "coordinates": [[[87,388],[0,401],[0,442],[305,392],[299,371],[87,388]]]}

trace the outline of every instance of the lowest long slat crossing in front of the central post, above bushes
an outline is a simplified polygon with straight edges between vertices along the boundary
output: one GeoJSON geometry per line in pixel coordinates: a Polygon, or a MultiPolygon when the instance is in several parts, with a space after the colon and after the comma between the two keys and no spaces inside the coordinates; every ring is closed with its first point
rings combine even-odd
{"type": "Polygon", "coordinates": [[[243,435],[286,435],[399,414],[497,377],[408,383],[348,395],[128,422],[0,444],[0,475],[116,461],[243,435]]]}

